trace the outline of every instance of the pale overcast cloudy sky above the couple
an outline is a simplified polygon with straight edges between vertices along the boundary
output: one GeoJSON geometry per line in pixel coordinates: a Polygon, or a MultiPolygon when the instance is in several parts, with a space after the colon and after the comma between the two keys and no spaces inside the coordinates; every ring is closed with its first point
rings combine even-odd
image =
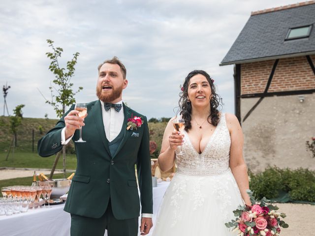
{"type": "MultiPolygon", "coordinates": [[[[233,65],[219,66],[251,12],[297,0],[1,0],[0,86],[8,83],[10,115],[57,118],[50,98],[46,39],[63,48],[61,66],[79,52],[77,102],[96,100],[97,65],[117,56],[127,68],[123,100],[148,118],[174,116],[187,74],[207,71],[234,113],[233,65]]],[[[3,95],[3,94],[2,94],[3,95]]],[[[0,100],[3,115],[4,99],[0,100]]],[[[7,115],[5,113],[5,115],[7,115]]]]}

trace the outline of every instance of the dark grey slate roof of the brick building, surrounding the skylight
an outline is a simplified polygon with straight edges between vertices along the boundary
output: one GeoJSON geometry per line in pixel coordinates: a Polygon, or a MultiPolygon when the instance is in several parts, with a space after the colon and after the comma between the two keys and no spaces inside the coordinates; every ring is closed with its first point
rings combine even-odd
{"type": "Polygon", "coordinates": [[[315,23],[315,4],[252,15],[221,61],[231,62],[315,52],[315,27],[309,38],[284,41],[289,28],[315,23]]]}

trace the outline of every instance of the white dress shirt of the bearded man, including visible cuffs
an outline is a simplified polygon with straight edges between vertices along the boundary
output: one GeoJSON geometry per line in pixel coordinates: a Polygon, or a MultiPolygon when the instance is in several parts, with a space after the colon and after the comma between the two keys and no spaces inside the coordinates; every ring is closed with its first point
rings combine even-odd
{"type": "MultiPolygon", "coordinates": [[[[100,101],[101,109],[102,109],[102,117],[103,117],[103,124],[105,129],[105,135],[109,142],[113,141],[122,130],[122,126],[124,123],[124,107],[123,101],[119,101],[115,104],[122,104],[122,109],[117,112],[113,107],[111,107],[108,111],[105,111],[104,102],[100,101]]],[[[72,139],[73,135],[65,140],[65,127],[61,132],[61,144],[66,145],[72,139]]],[[[153,214],[149,213],[142,213],[142,217],[152,218],[153,214]]]]}

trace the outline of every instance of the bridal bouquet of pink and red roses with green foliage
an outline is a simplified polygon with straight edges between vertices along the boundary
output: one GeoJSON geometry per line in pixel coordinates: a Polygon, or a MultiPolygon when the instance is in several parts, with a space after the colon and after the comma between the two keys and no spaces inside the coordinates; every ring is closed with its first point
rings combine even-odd
{"type": "Polygon", "coordinates": [[[232,232],[237,232],[237,236],[279,236],[282,228],[289,227],[280,217],[284,218],[284,213],[279,213],[277,206],[270,204],[270,200],[265,197],[257,202],[252,196],[252,191],[247,191],[250,196],[252,206],[239,206],[233,210],[237,218],[225,223],[227,228],[232,228],[232,232]]]}

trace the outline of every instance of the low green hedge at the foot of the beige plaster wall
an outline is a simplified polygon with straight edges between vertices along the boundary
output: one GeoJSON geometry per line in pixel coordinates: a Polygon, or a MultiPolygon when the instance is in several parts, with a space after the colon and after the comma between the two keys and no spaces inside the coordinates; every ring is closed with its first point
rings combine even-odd
{"type": "Polygon", "coordinates": [[[292,201],[315,202],[315,171],[269,167],[264,172],[249,171],[250,189],[261,199],[278,198],[281,191],[287,192],[292,201]]]}

